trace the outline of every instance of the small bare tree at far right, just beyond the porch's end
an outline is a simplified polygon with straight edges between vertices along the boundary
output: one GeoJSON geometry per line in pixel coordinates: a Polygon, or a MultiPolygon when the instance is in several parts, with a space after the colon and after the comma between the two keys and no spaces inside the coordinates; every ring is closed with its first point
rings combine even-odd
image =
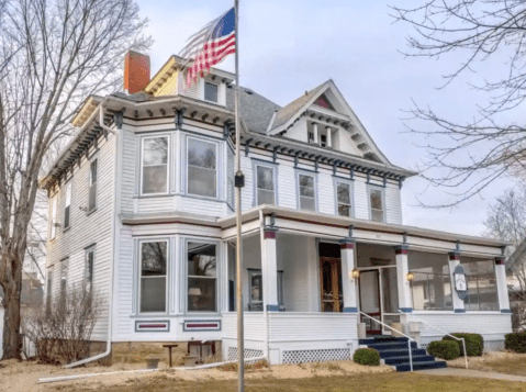
{"type": "Polygon", "coordinates": [[[484,221],[485,235],[489,237],[512,242],[507,247],[507,268],[512,272],[510,291],[512,294],[513,329],[526,328],[526,253],[523,247],[526,242],[526,187],[506,190],[490,206],[484,221]]]}

